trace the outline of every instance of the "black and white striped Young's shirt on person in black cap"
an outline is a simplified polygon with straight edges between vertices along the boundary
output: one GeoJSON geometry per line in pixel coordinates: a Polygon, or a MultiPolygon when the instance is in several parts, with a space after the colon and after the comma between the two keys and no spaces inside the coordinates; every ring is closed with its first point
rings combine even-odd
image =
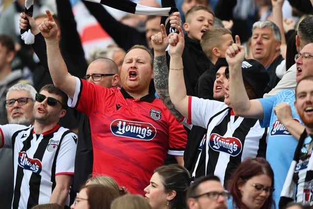
{"type": "Polygon", "coordinates": [[[214,174],[224,182],[247,157],[265,157],[267,129],[259,121],[234,116],[224,102],[189,97],[188,117],[193,125],[207,128],[198,148],[191,175],[214,174]]]}

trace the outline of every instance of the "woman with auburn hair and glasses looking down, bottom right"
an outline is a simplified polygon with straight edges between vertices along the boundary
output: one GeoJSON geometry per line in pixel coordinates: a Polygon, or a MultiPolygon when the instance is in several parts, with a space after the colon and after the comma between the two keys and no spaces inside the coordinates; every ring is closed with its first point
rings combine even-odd
{"type": "Polygon", "coordinates": [[[273,186],[274,173],[264,158],[244,160],[228,182],[232,207],[234,209],[270,209],[274,206],[273,186]]]}

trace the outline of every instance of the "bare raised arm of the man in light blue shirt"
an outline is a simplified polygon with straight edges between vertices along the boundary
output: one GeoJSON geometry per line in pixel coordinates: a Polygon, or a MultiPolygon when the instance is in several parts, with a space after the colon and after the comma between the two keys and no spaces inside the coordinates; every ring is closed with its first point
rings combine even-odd
{"type": "Polygon", "coordinates": [[[235,115],[263,119],[263,107],[257,99],[250,100],[244,86],[241,63],[245,58],[245,48],[240,45],[239,36],[236,44],[226,50],[226,60],[229,67],[229,98],[235,115]]]}

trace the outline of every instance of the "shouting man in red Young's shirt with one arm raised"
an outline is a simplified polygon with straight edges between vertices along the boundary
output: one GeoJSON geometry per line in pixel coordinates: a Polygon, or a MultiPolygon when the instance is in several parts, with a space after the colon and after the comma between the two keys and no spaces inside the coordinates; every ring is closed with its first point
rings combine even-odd
{"type": "Polygon", "coordinates": [[[133,46],[121,67],[121,90],[108,89],[68,73],[57,45],[57,25],[49,11],[39,29],[45,37],[54,84],[67,93],[67,104],[89,116],[93,172],[110,175],[131,193],[144,194],[166,153],[183,164],[186,131],[154,92],[149,92],[153,78],[149,49],[133,46]]]}

